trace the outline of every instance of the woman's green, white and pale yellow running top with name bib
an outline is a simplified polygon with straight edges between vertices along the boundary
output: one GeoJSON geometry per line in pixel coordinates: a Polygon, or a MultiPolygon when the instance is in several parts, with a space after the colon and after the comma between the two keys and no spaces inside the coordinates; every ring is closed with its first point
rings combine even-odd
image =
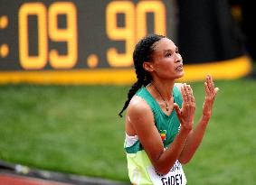
{"type": "MultiPolygon", "coordinates": [[[[175,109],[170,116],[166,116],[155,98],[151,96],[145,87],[140,88],[136,95],[143,98],[150,106],[154,114],[156,128],[161,135],[165,148],[168,148],[173,143],[180,128],[175,109]]],[[[175,103],[181,107],[182,97],[177,87],[174,87],[173,96],[175,103]]],[[[125,150],[128,159],[128,176],[133,184],[185,185],[185,174],[178,161],[175,162],[173,168],[166,175],[156,173],[137,135],[128,136],[126,134],[125,150]]]]}

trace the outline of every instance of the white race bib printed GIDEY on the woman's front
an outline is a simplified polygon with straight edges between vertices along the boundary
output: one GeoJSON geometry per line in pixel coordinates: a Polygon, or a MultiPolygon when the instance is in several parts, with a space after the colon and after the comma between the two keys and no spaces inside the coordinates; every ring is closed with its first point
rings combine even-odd
{"type": "Polygon", "coordinates": [[[166,174],[161,175],[153,166],[148,167],[150,179],[154,185],[185,185],[186,179],[180,162],[176,161],[173,168],[166,174]]]}

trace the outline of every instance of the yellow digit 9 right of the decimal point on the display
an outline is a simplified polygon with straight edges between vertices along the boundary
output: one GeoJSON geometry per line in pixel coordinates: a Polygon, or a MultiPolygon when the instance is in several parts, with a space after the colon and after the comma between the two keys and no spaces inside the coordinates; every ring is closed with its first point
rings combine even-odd
{"type": "Polygon", "coordinates": [[[107,51],[107,59],[111,67],[129,67],[132,65],[132,52],[135,43],[135,7],[130,1],[112,1],[107,6],[107,35],[114,41],[125,41],[125,53],[115,48],[107,51]],[[125,27],[117,24],[118,14],[125,14],[125,27]]]}

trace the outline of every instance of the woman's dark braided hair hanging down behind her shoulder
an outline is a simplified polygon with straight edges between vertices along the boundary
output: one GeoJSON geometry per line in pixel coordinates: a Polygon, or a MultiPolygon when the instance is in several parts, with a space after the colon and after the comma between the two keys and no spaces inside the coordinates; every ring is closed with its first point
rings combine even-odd
{"type": "Polygon", "coordinates": [[[137,42],[135,50],[133,51],[133,62],[134,68],[137,76],[137,82],[132,85],[128,91],[128,99],[125,102],[119,116],[122,117],[122,113],[128,107],[131,98],[136,94],[137,90],[142,86],[147,86],[151,82],[151,75],[143,68],[144,61],[150,61],[152,53],[154,51],[154,43],[158,42],[163,35],[150,34],[137,42]]]}

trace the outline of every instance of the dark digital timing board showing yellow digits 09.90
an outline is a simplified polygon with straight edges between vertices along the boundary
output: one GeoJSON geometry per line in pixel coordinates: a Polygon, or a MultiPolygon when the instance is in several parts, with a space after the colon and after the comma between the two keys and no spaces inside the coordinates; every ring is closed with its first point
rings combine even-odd
{"type": "Polygon", "coordinates": [[[171,35],[169,4],[2,0],[0,70],[131,68],[141,37],[171,35]]]}

